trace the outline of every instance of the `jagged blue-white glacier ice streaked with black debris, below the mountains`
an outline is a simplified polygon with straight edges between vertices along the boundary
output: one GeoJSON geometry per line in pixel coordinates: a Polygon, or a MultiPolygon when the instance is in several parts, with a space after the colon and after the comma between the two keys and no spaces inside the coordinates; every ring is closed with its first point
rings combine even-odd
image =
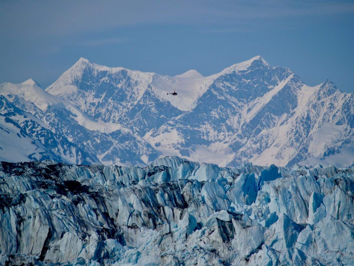
{"type": "Polygon", "coordinates": [[[353,265],[354,167],[1,162],[1,265],[353,265]]]}

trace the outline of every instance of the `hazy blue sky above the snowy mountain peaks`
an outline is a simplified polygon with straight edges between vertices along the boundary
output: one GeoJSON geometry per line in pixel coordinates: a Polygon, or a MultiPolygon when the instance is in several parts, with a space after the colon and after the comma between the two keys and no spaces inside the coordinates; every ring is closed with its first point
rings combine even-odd
{"type": "Polygon", "coordinates": [[[54,82],[80,57],[204,76],[253,56],[354,92],[353,1],[1,1],[0,83],[54,82]]]}

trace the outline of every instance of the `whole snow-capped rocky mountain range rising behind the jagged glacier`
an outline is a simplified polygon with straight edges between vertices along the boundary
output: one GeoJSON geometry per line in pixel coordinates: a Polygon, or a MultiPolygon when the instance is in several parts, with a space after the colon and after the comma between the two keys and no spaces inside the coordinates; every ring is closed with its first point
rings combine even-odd
{"type": "Polygon", "coordinates": [[[36,84],[36,97],[15,89],[23,86],[0,87],[7,103],[1,134],[9,136],[2,138],[2,160],[19,160],[5,150],[27,141],[16,138],[20,129],[28,131],[25,119],[70,144],[47,146],[31,133],[28,141],[36,144],[23,144],[29,148],[21,160],[143,165],[177,155],[222,166],[354,162],[353,94],[328,80],[309,87],[289,68],[270,66],[260,56],[209,77],[196,70],[161,76],[81,58],[45,92],[36,84]],[[175,89],[177,96],[167,95],[175,89]],[[10,103],[16,111],[7,111],[10,103]],[[34,149],[41,155],[33,157],[34,149]]]}

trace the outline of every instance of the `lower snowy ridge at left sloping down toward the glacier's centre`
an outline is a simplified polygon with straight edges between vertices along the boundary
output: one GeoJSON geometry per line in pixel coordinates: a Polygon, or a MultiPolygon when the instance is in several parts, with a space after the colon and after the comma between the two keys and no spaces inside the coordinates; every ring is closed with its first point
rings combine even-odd
{"type": "Polygon", "coordinates": [[[0,85],[0,158],[143,165],[154,149],[118,123],[96,122],[28,80],[0,85]]]}

